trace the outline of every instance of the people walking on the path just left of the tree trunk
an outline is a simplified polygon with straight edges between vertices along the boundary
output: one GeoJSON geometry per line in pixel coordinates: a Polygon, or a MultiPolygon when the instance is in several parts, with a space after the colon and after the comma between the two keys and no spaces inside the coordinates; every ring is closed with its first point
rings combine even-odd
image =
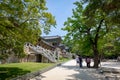
{"type": "MultiPolygon", "coordinates": [[[[87,67],[90,68],[91,59],[90,59],[89,56],[87,56],[87,57],[85,58],[85,62],[86,62],[86,64],[87,64],[87,67]]],[[[82,65],[83,59],[82,59],[82,57],[81,57],[80,55],[78,55],[78,56],[76,57],[76,63],[79,64],[79,67],[82,67],[82,66],[83,66],[83,65],[82,65]]]]}

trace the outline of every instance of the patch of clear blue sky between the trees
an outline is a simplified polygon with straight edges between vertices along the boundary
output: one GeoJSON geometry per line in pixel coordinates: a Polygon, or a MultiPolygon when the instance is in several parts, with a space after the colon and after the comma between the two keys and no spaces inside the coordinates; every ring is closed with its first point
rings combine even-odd
{"type": "MultiPolygon", "coordinates": [[[[72,16],[72,9],[75,8],[73,4],[77,0],[46,0],[46,6],[48,7],[48,12],[52,13],[56,19],[56,28],[51,28],[51,32],[47,36],[64,36],[67,32],[62,31],[61,28],[64,27],[64,22],[68,17],[72,16]]],[[[46,36],[42,34],[42,36],[46,36]]]]}

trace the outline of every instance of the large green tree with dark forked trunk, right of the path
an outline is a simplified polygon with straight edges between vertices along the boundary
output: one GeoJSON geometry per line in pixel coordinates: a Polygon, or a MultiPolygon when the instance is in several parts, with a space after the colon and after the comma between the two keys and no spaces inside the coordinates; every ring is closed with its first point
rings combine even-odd
{"type": "Polygon", "coordinates": [[[93,55],[94,67],[97,68],[101,55],[100,50],[104,45],[101,44],[104,43],[104,37],[109,32],[113,32],[114,29],[118,29],[119,23],[116,21],[111,22],[118,14],[115,15],[113,13],[116,11],[114,9],[113,12],[108,11],[108,14],[102,10],[103,8],[99,8],[103,0],[84,1],[87,1],[86,6],[82,6],[83,3],[78,1],[74,3],[76,8],[73,9],[73,16],[69,17],[64,23],[65,28],[63,30],[68,31],[67,36],[69,36],[69,39],[67,40],[72,40],[74,44],[79,44],[78,49],[82,50],[82,53],[93,55]]]}

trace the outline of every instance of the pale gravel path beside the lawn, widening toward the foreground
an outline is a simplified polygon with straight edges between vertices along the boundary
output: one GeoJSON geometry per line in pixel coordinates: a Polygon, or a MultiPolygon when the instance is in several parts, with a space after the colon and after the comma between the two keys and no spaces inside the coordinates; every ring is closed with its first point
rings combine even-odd
{"type": "Polygon", "coordinates": [[[30,80],[108,80],[99,70],[85,66],[83,62],[83,68],[79,68],[75,60],[70,60],[30,80]]]}

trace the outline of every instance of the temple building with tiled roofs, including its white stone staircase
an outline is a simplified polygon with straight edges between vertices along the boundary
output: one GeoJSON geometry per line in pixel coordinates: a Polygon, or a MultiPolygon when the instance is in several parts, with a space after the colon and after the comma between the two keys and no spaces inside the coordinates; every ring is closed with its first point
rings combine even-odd
{"type": "Polygon", "coordinates": [[[29,54],[28,61],[59,61],[60,56],[65,57],[66,55],[65,46],[61,44],[61,42],[62,39],[60,36],[42,36],[39,37],[36,45],[27,43],[25,52],[29,54]],[[35,58],[33,58],[33,56],[35,58]]]}

